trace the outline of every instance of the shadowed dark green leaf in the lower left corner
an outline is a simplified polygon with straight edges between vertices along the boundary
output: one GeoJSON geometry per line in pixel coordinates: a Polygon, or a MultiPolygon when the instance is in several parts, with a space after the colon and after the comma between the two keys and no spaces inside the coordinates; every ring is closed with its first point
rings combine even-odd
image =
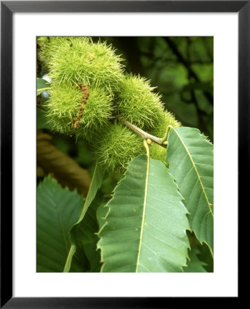
{"type": "Polygon", "coordinates": [[[38,185],[36,271],[62,272],[70,249],[69,230],[79,217],[83,198],[62,189],[51,177],[38,185]]]}

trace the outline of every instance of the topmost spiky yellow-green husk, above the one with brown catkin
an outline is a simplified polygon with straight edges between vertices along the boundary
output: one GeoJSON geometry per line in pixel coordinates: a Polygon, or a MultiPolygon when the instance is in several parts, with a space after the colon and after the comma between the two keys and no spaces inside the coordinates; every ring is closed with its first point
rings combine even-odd
{"type": "Polygon", "coordinates": [[[93,43],[86,37],[50,38],[43,49],[49,77],[60,84],[98,84],[110,93],[123,79],[122,58],[106,43],[93,43]]]}

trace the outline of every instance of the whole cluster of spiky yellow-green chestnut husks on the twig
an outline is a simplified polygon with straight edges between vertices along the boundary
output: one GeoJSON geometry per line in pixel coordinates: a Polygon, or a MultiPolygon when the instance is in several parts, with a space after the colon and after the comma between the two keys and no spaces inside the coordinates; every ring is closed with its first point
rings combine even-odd
{"type": "MultiPolygon", "coordinates": [[[[58,133],[87,139],[95,158],[108,172],[123,170],[145,152],[141,137],[115,120],[123,118],[162,138],[169,124],[180,126],[164,111],[161,95],[141,76],[124,73],[122,58],[106,43],[87,37],[40,37],[38,59],[49,71],[52,87],[47,124],[58,133]]],[[[151,139],[150,156],[166,161],[166,148],[151,139]]]]}

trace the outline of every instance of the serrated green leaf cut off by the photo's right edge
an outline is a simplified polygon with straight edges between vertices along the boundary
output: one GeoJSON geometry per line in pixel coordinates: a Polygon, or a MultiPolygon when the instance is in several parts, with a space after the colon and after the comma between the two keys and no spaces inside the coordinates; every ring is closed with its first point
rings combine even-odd
{"type": "Polygon", "coordinates": [[[196,128],[171,128],[167,162],[189,211],[198,240],[214,247],[213,145],[196,128]]]}

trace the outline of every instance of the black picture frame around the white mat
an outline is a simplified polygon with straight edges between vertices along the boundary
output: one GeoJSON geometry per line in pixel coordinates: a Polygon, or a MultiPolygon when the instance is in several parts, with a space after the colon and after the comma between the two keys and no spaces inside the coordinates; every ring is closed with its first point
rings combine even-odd
{"type": "MultiPolygon", "coordinates": [[[[12,222],[6,218],[12,218],[14,12],[237,12],[239,206],[249,200],[244,174],[249,172],[250,1],[1,1],[1,308],[178,308],[180,302],[186,306],[184,297],[12,297],[12,222]]],[[[230,301],[239,296],[240,292],[230,301]]],[[[192,298],[192,306],[197,301],[192,298]]]]}

